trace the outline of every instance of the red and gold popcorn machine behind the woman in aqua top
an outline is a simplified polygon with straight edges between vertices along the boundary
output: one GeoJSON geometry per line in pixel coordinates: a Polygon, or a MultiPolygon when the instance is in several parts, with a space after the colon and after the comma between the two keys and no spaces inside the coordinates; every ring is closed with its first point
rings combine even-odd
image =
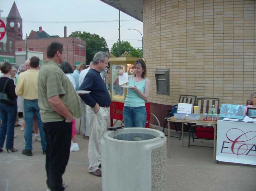
{"type": "MultiPolygon", "coordinates": [[[[118,85],[114,85],[113,81],[118,75],[120,70],[124,72],[128,72],[128,75],[133,74],[134,70],[134,62],[139,59],[136,57],[116,57],[109,58],[109,63],[111,67],[111,84],[110,84],[110,97],[111,97],[111,105],[110,105],[110,122],[111,126],[113,126],[113,119],[123,120],[123,108],[124,102],[127,94],[127,89],[122,88],[118,85]]],[[[149,127],[150,120],[150,103],[146,102],[146,111],[147,111],[147,119],[146,119],[146,127],[149,127]]]]}

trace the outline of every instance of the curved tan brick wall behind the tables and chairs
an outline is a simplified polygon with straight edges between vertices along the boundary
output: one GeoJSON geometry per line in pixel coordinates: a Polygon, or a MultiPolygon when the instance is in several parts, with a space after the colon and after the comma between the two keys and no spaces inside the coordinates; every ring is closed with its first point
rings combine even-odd
{"type": "Polygon", "coordinates": [[[143,25],[150,102],[245,104],[256,91],[256,1],[145,0],[143,25]],[[156,68],[170,68],[170,96],[156,94],[156,68]]]}

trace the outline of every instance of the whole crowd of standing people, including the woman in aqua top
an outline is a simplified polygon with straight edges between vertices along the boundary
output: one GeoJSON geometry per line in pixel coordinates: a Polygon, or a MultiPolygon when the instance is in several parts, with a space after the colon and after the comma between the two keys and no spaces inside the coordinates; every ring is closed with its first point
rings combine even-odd
{"type": "MultiPolygon", "coordinates": [[[[41,142],[46,155],[47,191],[62,191],[62,175],[72,151],[79,151],[75,119],[81,118],[84,139],[88,139],[88,172],[101,176],[100,140],[107,130],[110,98],[110,69],[105,80],[101,72],[109,62],[109,53],[97,52],[87,68],[80,64],[75,69],[65,62],[65,48],[52,42],[46,50],[47,60],[39,65],[36,56],[19,67],[19,75],[5,62],[0,73],[0,152],[6,137],[7,152],[14,148],[14,126],[17,113],[23,112],[25,148],[22,154],[32,156],[32,137],[41,142]],[[89,94],[77,94],[87,90],[89,94]],[[39,131],[39,133],[38,133],[39,131]]],[[[145,127],[145,101],[150,91],[143,59],[136,61],[124,107],[125,127],[145,127]],[[132,119],[132,120],[130,120],[132,119]]],[[[123,75],[123,72],[119,72],[123,75]]],[[[118,81],[115,79],[115,83],[118,81]]]]}

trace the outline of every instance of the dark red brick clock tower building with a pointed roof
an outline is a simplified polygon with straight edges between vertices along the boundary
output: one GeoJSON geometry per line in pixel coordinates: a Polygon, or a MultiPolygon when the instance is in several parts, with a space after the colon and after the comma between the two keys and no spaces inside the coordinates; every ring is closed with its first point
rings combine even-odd
{"type": "Polygon", "coordinates": [[[6,43],[0,42],[0,62],[15,63],[15,41],[22,40],[22,18],[16,3],[6,18],[6,43]]]}

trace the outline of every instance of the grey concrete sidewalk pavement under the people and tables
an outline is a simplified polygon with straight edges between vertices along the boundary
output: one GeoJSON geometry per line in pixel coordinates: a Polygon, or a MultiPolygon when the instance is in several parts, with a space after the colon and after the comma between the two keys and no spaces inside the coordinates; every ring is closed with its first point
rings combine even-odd
{"type": "MultiPolygon", "coordinates": [[[[20,122],[20,124],[22,124],[20,122]]],[[[79,124],[79,123],[78,123],[79,124]]],[[[16,153],[0,153],[0,191],[45,191],[45,155],[41,143],[33,141],[33,156],[22,154],[23,134],[15,127],[16,153]]],[[[178,135],[172,131],[172,135],[178,135]]],[[[184,141],[187,143],[188,135],[184,141]]],[[[213,145],[213,141],[197,144],[213,145]]],[[[80,151],[70,153],[63,180],[66,191],[101,191],[101,177],[90,175],[88,168],[88,140],[77,135],[80,151]]],[[[191,146],[182,147],[181,141],[171,138],[170,158],[167,158],[166,191],[255,191],[256,167],[234,163],[213,163],[213,149],[191,146]]],[[[122,169],[125,173],[125,169],[122,169]]],[[[113,180],[113,184],[115,180],[113,180]]]]}

